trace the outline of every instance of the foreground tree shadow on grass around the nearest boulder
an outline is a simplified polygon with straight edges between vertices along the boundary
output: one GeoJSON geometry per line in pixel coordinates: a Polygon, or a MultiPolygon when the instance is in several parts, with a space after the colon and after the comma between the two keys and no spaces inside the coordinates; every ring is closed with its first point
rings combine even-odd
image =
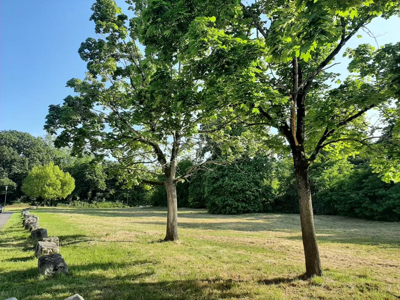
{"type": "MultiPolygon", "coordinates": [[[[68,263],[68,262],[67,262],[68,263]]],[[[86,300],[184,300],[210,298],[248,298],[250,292],[239,288],[241,282],[232,279],[193,279],[193,280],[161,280],[152,281],[155,274],[150,262],[137,260],[112,264],[87,264],[71,266],[70,274],[55,276],[40,276],[34,268],[28,270],[13,270],[0,274],[2,279],[0,295],[15,296],[30,299],[61,300],[78,293],[86,300]],[[123,270],[127,266],[145,267],[123,270]],[[120,272],[118,269],[122,269],[120,272]],[[107,273],[116,270],[115,276],[107,273]],[[105,272],[105,273],[103,273],[105,272]],[[12,284],[6,284],[11,282],[12,284]],[[26,288],[29,286],[29,288],[26,288]]]]}

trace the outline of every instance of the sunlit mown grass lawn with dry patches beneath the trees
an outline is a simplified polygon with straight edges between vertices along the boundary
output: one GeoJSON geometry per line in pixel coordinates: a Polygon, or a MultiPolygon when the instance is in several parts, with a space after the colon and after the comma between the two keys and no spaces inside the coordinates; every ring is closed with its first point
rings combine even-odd
{"type": "Polygon", "coordinates": [[[180,209],[178,242],[165,208],[34,211],[60,238],[70,274],[38,273],[36,242],[12,215],[0,232],[0,299],[400,298],[400,224],[316,216],[324,276],[303,280],[298,215],[222,216],[180,209]]]}

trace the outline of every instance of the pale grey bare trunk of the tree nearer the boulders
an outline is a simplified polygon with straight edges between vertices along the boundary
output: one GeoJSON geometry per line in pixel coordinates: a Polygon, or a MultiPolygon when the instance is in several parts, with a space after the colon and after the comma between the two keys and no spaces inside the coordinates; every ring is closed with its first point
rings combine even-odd
{"type": "Polygon", "coordinates": [[[176,200],[176,182],[174,176],[166,174],[165,188],[167,190],[167,234],[164,241],[178,240],[178,202],[176,200]]]}

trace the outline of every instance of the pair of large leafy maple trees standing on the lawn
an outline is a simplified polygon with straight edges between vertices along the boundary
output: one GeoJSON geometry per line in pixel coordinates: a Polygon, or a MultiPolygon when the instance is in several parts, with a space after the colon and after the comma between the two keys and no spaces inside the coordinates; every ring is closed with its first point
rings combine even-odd
{"type": "MultiPolygon", "coordinates": [[[[90,20],[100,37],[79,54],[84,80],[76,96],[52,105],[46,121],[56,146],[73,155],[118,162],[126,186],[165,186],[165,240],[178,239],[176,185],[244,150],[290,154],[299,200],[307,276],[321,275],[309,168],[322,157],[368,156],[383,180],[398,181],[394,140],[376,140],[382,120],[399,114],[400,44],[348,49],[352,76],[329,72],[348,40],[373,18],[399,13],[396,1],[127,0],[131,18],[113,0],[97,0],[90,20]],[[337,82],[332,86],[330,82],[337,82]],[[248,130],[230,135],[234,126],[248,130]],[[200,160],[205,136],[223,157],[200,160]],[[194,163],[177,173],[178,157],[194,163]]],[[[395,125],[398,135],[398,124],[395,125]]],[[[252,154],[250,154],[252,156],[252,154]]]]}

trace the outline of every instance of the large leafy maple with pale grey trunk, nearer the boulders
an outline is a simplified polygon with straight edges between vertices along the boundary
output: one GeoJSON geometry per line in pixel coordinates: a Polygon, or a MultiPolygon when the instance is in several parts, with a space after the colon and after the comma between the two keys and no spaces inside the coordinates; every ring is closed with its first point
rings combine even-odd
{"type": "Polygon", "coordinates": [[[129,22],[114,1],[93,4],[90,20],[101,37],[88,38],[79,48],[88,62],[86,78],[67,82],[78,95],[65,98],[62,106],[50,106],[45,129],[51,134],[61,129],[55,144],[72,146],[72,155],[114,158],[119,164],[114,164],[113,174],[126,188],[139,182],[164,185],[165,240],[171,241],[178,239],[176,184],[214,163],[196,160],[178,175],[178,156],[196,149],[198,134],[204,133],[200,124],[212,123],[217,116],[202,112],[202,82],[182,67],[186,61],[177,57],[182,49],[168,48],[162,41],[139,44],[147,39],[145,27],[156,22],[146,16],[146,3],[130,7],[134,16],[129,22]],[[165,180],[158,180],[160,174],[165,180]]]}

